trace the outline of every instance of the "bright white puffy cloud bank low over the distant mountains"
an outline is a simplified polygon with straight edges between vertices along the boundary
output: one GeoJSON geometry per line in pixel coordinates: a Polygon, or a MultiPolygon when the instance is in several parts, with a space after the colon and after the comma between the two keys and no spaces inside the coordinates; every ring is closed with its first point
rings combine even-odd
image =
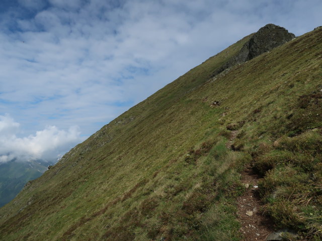
{"type": "Polygon", "coordinates": [[[0,164],[12,160],[48,160],[60,158],[70,148],[83,141],[78,127],[67,131],[48,126],[34,135],[19,138],[20,124],[10,115],[0,115],[0,164]]]}

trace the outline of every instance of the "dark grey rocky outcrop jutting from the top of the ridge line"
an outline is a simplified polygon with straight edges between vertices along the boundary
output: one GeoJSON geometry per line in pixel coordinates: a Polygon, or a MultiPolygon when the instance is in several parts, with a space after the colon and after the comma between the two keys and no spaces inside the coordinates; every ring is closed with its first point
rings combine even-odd
{"type": "Polygon", "coordinates": [[[256,56],[285,44],[294,38],[295,35],[289,33],[286,29],[274,24],[267,24],[263,28],[260,28],[259,31],[257,31],[251,39],[244,44],[237,55],[217,69],[217,71],[213,73],[213,76],[236,64],[241,64],[251,60],[256,56]]]}

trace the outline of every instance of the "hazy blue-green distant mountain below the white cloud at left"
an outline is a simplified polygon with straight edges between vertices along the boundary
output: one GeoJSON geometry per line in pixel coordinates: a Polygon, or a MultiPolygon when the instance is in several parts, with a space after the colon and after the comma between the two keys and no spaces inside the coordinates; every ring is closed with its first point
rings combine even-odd
{"type": "Polygon", "coordinates": [[[0,164],[0,207],[10,202],[25,184],[40,177],[53,162],[13,160],[0,164]]]}

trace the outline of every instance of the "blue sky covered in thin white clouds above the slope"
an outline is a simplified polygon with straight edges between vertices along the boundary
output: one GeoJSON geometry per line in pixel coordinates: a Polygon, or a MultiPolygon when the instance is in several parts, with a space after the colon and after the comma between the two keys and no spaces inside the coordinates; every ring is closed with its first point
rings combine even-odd
{"type": "Polygon", "coordinates": [[[1,0],[0,163],[57,159],[268,23],[302,35],[320,0],[1,0]]]}

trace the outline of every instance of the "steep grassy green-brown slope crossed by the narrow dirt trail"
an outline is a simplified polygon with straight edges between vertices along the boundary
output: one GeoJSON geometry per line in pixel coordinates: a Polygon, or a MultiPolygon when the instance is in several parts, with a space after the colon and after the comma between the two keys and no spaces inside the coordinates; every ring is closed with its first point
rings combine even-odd
{"type": "Polygon", "coordinates": [[[249,163],[275,225],[320,240],[322,28],[214,76],[251,37],[30,182],[0,209],[2,240],[239,240],[234,199],[249,163]]]}

